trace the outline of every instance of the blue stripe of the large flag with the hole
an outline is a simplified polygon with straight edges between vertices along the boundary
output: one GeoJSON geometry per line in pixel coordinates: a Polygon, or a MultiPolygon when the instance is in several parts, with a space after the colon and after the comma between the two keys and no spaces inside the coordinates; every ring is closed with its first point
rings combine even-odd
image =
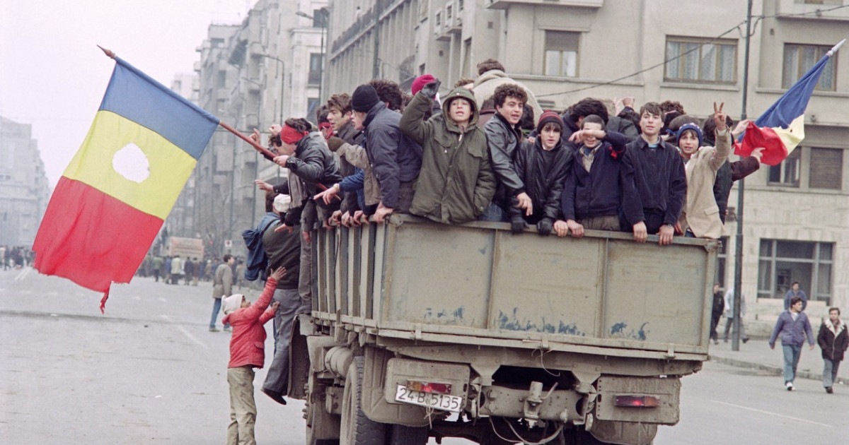
{"type": "Polygon", "coordinates": [[[121,58],[115,58],[115,70],[100,109],[156,131],[194,159],[200,159],[218,125],[218,118],[121,58]]]}

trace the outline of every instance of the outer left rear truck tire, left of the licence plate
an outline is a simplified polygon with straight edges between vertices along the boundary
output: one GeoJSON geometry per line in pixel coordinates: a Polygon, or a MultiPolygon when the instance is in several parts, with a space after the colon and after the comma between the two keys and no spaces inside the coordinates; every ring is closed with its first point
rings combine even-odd
{"type": "Polygon", "coordinates": [[[363,413],[363,356],[354,357],[348,368],[342,392],[340,443],[346,445],[383,445],[386,424],[368,419],[363,413]]]}

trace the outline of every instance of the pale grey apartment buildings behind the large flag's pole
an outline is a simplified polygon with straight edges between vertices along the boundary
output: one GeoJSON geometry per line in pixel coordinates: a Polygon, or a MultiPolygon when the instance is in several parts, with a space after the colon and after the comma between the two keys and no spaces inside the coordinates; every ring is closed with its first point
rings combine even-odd
{"type": "MultiPolygon", "coordinates": [[[[264,138],[270,125],[289,117],[315,120],[326,4],[259,0],[241,23],[210,25],[197,48],[194,79],[178,75],[172,89],[244,134],[256,128],[264,138]]],[[[254,180],[276,183],[284,176],[253,147],[219,128],[166,220],[167,234],[202,238],[214,256],[243,254],[241,232],[265,213],[254,180]]]]}

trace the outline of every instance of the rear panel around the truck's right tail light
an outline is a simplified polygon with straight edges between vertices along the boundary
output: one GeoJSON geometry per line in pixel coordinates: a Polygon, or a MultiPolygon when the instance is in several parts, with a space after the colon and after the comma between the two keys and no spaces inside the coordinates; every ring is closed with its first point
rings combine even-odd
{"type": "Polygon", "coordinates": [[[599,420],[678,423],[681,381],[677,378],[603,375],[596,389],[595,416],[599,420]]]}

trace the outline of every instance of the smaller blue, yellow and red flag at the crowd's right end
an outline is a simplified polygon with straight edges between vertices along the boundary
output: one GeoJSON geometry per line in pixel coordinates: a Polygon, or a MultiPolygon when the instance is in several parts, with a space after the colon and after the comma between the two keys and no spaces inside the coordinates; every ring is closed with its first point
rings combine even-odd
{"type": "Polygon", "coordinates": [[[805,139],[805,108],[811,99],[811,93],[817,86],[819,75],[823,73],[829,58],[841,47],[843,42],[821,58],[805,75],[784,92],[755,122],[749,122],[745,133],[734,144],[734,153],[749,156],[751,151],[763,147],[761,162],[778,165],[805,139]]]}

